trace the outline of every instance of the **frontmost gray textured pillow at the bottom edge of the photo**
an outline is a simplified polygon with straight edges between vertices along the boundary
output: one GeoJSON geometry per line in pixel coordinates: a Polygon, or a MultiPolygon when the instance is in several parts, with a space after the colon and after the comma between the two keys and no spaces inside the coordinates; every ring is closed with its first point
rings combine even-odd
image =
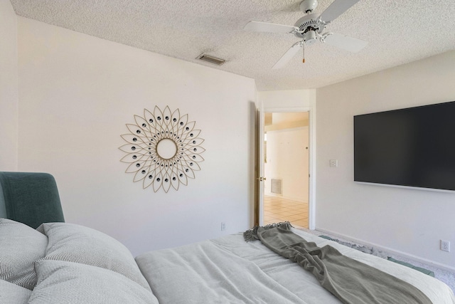
{"type": "Polygon", "coordinates": [[[65,261],[37,261],[29,304],[156,304],[151,291],[119,273],[65,261]]]}

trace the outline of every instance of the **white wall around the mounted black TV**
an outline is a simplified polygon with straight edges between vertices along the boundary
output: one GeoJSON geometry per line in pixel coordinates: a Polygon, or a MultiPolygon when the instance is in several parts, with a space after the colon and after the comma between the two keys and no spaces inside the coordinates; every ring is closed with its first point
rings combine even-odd
{"type": "Polygon", "coordinates": [[[455,245],[455,193],[353,182],[353,115],[455,100],[454,83],[451,51],[317,90],[317,229],[455,269],[454,248],[439,250],[455,245]]]}

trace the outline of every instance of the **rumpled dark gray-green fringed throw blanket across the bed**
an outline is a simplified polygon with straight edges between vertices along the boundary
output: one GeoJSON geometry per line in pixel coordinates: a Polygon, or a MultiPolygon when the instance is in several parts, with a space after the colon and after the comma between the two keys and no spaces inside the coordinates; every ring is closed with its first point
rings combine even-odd
{"type": "Polygon", "coordinates": [[[431,304],[422,291],[374,267],[343,256],[336,248],[319,248],[291,231],[289,222],[245,231],[245,241],[259,239],[270,250],[310,271],[343,303],[431,304]]]}

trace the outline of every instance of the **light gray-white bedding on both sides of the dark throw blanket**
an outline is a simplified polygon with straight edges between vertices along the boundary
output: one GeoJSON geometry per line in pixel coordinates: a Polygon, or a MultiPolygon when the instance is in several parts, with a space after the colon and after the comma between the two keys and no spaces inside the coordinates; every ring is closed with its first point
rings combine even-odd
{"type": "MultiPolygon", "coordinates": [[[[416,286],[434,304],[455,304],[452,290],[435,278],[304,231],[296,234],[319,246],[379,268],[416,286]]],[[[242,234],[178,248],[151,251],[136,258],[159,303],[340,303],[313,275],[282,258],[260,241],[242,234]]]]}

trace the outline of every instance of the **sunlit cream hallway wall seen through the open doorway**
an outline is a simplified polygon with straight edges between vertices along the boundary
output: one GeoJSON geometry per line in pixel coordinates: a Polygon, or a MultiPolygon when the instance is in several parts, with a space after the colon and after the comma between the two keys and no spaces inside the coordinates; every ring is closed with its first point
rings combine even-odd
{"type": "Polygon", "coordinates": [[[264,192],[271,194],[272,179],[282,179],[282,197],[295,201],[308,202],[309,172],[309,128],[267,132],[267,164],[264,173],[267,177],[264,192]]]}

